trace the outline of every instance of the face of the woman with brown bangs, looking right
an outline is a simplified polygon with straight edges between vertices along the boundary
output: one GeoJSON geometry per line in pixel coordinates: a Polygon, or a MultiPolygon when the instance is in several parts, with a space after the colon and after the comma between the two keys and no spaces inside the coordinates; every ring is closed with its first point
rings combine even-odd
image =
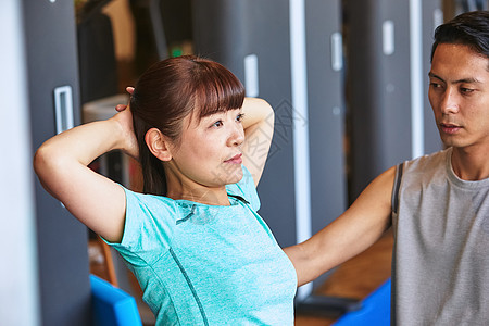
{"type": "MultiPolygon", "coordinates": [[[[181,179],[222,187],[242,178],[241,109],[218,112],[200,121],[186,116],[178,145],[172,148],[173,168],[181,179]]],[[[196,186],[198,186],[196,185],[196,186]]]]}

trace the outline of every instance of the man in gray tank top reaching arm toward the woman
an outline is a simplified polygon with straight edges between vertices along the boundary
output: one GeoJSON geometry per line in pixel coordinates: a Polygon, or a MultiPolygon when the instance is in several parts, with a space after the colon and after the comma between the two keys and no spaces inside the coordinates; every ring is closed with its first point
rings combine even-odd
{"type": "Polygon", "coordinates": [[[285,251],[302,285],[392,226],[392,323],[489,325],[489,12],[437,28],[428,97],[447,149],[389,168],[285,251]]]}

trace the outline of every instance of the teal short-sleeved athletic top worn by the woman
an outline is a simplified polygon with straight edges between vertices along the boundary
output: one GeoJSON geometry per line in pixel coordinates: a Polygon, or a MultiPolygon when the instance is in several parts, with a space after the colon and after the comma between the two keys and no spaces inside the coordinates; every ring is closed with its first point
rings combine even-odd
{"type": "Polygon", "coordinates": [[[293,325],[297,274],[256,211],[253,178],[229,206],[126,192],[121,243],[156,325],[293,325]]]}

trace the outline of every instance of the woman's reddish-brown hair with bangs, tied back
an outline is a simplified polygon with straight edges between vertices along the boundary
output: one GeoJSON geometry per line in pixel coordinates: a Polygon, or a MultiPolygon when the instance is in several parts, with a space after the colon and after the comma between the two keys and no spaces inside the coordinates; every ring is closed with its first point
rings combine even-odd
{"type": "Polygon", "coordinates": [[[130,98],[134,130],[139,147],[145,193],[166,195],[162,162],[145,141],[150,128],[178,143],[183,120],[189,114],[203,116],[242,106],[244,87],[223,65],[195,55],[160,61],[136,83],[130,98]]]}

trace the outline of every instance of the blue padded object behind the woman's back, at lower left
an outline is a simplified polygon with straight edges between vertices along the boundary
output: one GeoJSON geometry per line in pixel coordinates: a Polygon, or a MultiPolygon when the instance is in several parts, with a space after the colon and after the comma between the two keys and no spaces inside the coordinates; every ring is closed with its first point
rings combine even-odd
{"type": "Polygon", "coordinates": [[[95,326],[142,325],[136,300],[110,283],[90,275],[95,326]]]}

